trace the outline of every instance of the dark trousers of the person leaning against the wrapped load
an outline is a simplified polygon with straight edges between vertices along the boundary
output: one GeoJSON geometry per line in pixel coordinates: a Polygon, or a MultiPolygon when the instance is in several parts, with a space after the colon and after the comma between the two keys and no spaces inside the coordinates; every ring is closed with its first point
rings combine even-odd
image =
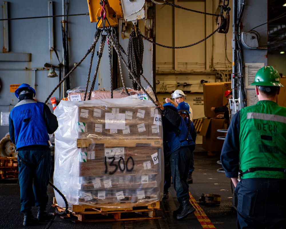
{"type": "Polygon", "coordinates": [[[181,147],[171,153],[170,166],[178,200],[189,199],[187,177],[190,167],[190,149],[188,146],[181,147]]]}

